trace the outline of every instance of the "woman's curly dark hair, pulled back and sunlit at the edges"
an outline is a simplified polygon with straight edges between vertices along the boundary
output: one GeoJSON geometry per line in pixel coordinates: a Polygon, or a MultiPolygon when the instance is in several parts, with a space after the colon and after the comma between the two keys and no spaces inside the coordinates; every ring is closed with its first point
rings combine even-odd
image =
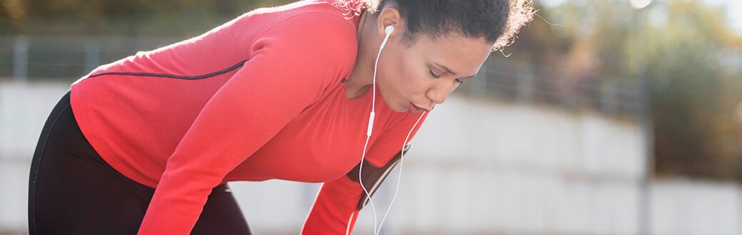
{"type": "Polygon", "coordinates": [[[407,21],[403,35],[409,42],[420,33],[433,38],[459,33],[485,38],[493,50],[512,44],[534,13],[531,0],[361,0],[361,5],[370,12],[386,7],[399,10],[407,21]]]}

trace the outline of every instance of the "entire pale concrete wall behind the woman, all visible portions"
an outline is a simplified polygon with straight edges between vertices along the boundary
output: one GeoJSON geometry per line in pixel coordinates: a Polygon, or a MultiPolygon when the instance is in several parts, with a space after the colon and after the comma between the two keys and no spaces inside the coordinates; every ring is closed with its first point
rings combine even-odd
{"type": "MultiPolygon", "coordinates": [[[[26,231],[30,157],[67,89],[0,83],[0,234],[26,231]]],[[[382,234],[742,234],[738,185],[668,179],[643,191],[643,143],[637,124],[597,113],[450,97],[406,155],[382,234]]],[[[375,196],[378,220],[396,179],[375,196]]],[[[318,188],[231,185],[256,234],[298,234],[318,188]]],[[[373,219],[368,207],[355,234],[372,234],[373,219]]]]}

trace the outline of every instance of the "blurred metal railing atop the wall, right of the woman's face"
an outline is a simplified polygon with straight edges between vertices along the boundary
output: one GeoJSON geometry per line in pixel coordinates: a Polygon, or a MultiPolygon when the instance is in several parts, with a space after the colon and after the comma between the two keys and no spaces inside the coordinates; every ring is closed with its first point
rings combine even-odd
{"type": "Polygon", "coordinates": [[[646,105],[640,79],[571,71],[539,64],[490,58],[481,74],[462,87],[475,97],[597,110],[636,119],[646,105]]]}

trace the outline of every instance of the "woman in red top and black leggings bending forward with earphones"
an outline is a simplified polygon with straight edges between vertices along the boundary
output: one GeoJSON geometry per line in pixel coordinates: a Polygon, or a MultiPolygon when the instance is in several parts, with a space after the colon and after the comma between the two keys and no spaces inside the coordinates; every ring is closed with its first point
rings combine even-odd
{"type": "Polygon", "coordinates": [[[249,234],[226,182],[285,179],[324,182],[304,234],[347,233],[367,196],[348,172],[388,165],[531,13],[299,1],[98,67],[42,131],[30,232],[249,234]]]}

